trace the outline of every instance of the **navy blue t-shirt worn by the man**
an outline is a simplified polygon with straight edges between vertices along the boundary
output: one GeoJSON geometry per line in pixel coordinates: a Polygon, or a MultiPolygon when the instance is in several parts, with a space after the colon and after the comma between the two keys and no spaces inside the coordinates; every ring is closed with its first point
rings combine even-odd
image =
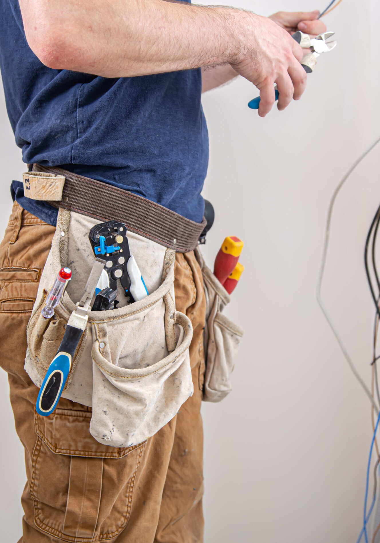
{"type": "MultiPolygon", "coordinates": [[[[201,222],[208,136],[201,72],[131,78],[52,70],[28,46],[17,0],[0,0],[0,67],[23,161],[59,166],[201,222]]],[[[55,224],[56,210],[12,193],[55,224]]]]}

